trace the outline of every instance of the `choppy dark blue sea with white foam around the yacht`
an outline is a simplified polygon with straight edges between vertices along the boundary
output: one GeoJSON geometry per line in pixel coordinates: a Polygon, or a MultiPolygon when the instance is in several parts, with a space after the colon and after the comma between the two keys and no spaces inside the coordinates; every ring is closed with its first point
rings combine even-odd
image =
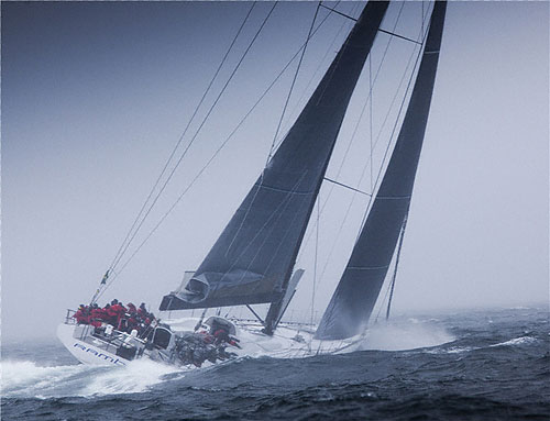
{"type": "Polygon", "coordinates": [[[2,420],[550,419],[548,308],[398,317],[363,351],[183,372],[77,364],[55,339],[2,346],[2,420]]]}

